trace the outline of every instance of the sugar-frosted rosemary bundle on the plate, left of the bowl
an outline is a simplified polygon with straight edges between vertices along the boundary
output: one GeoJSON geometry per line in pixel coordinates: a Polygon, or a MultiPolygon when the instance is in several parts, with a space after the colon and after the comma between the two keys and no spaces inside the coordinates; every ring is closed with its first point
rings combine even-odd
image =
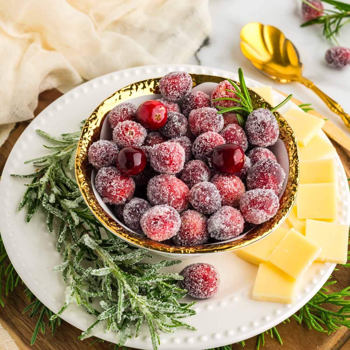
{"type": "Polygon", "coordinates": [[[45,146],[53,152],[26,161],[37,170],[28,175],[12,175],[32,178],[18,210],[27,207],[27,222],[39,207],[46,212],[47,228],[54,232],[57,223],[57,251],[63,253],[63,262],[54,268],[62,272],[69,286],[69,293],[56,315],[39,301],[31,303],[25,311],[34,316],[40,311],[32,342],[38,330],[44,330],[43,317],[49,315],[50,326],[55,327],[58,316],[75,302],[97,317],[81,339],[93,336],[97,324],[105,331],[115,331],[117,342],[124,345],[135,328],[139,335],[141,325],[148,325],[153,348],[160,344],[160,331],[173,332],[177,328],[195,330],[182,319],[192,316],[194,303],[181,303],[187,294],[177,282],[182,276],[174,273],[158,273],[164,267],[179,264],[178,260],[163,260],[150,264],[141,262],[152,258],[147,250],[129,246],[110,232],[93,216],[78,185],[70,175],[73,169],[80,132],[62,134],[61,137],[37,130],[42,137],[54,141],[55,146],[45,146]],[[86,263],[90,267],[86,266],[86,263]],[[92,265],[91,265],[92,264],[92,265]],[[92,267],[91,267],[92,266],[92,267]],[[99,302],[99,308],[92,306],[99,302]]]}

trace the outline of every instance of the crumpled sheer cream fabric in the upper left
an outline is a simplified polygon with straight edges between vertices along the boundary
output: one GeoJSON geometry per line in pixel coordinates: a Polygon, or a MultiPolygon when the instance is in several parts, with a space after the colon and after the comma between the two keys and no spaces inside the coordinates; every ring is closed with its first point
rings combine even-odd
{"type": "Polygon", "coordinates": [[[208,0],[0,0],[0,124],[33,118],[46,89],[183,63],[210,29],[208,0]]]}

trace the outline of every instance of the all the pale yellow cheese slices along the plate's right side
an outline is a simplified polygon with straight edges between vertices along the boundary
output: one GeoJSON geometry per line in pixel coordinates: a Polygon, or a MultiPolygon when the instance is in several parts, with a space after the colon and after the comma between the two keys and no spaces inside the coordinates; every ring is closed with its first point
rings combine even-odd
{"type": "MultiPolygon", "coordinates": [[[[271,87],[253,90],[273,104],[271,87]]],[[[296,135],[300,160],[296,203],[286,219],[289,230],[280,227],[236,254],[259,265],[253,299],[292,303],[298,282],[314,261],[346,262],[349,226],[335,223],[336,151],[320,134],[324,120],[300,109],[290,109],[283,117],[296,135]]]]}

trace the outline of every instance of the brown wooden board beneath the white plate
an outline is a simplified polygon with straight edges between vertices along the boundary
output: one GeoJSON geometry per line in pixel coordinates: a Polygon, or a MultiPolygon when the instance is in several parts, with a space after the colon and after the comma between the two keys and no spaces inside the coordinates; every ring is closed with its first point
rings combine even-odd
{"type": "MultiPolygon", "coordinates": [[[[35,115],[41,112],[46,106],[61,96],[57,90],[49,90],[40,94],[39,104],[35,111],[35,115]]],[[[294,100],[295,103],[301,104],[300,101],[294,100]]],[[[317,113],[317,112],[314,112],[317,113]]],[[[6,159],[19,138],[20,134],[25,130],[28,122],[19,123],[15,130],[10,134],[8,140],[0,147],[0,174],[6,159]]],[[[350,158],[348,153],[333,142],[337,152],[343,162],[346,175],[350,177],[350,158]]],[[[330,290],[336,291],[350,285],[350,269],[341,267],[339,271],[334,272],[334,279],[338,283],[330,286],[330,290]]],[[[18,286],[12,294],[4,296],[5,308],[0,307],[0,323],[15,339],[20,350],[82,350],[82,349],[100,349],[111,350],[113,347],[107,343],[95,343],[89,347],[92,339],[78,340],[80,331],[70,324],[62,321],[60,327],[57,328],[54,338],[47,329],[45,334],[39,333],[36,343],[30,346],[30,339],[35,328],[37,318],[31,319],[27,315],[22,315],[23,309],[28,305],[28,300],[23,293],[24,286],[18,286]]],[[[5,290],[5,285],[2,286],[5,290]]],[[[235,315],[232,315],[235,317],[235,315]]],[[[238,316],[236,316],[238,317],[238,316]]],[[[265,336],[265,347],[260,349],[266,350],[350,350],[350,330],[343,328],[327,336],[313,330],[308,330],[304,325],[298,324],[294,319],[289,324],[280,324],[276,327],[281,335],[283,345],[280,345],[276,339],[265,336]]],[[[244,350],[255,349],[256,337],[247,339],[244,350]]],[[[241,345],[233,344],[233,350],[242,349],[241,345]]],[[[180,349],[179,349],[180,350],[180,349]]]]}

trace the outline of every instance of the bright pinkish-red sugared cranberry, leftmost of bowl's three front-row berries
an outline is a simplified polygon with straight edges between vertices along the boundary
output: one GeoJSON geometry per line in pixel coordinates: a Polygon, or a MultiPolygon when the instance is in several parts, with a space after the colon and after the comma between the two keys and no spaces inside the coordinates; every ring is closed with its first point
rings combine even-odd
{"type": "Polygon", "coordinates": [[[169,205],[156,205],[141,217],[141,228],[148,238],[163,241],[172,238],[180,229],[180,214],[169,205]]]}

